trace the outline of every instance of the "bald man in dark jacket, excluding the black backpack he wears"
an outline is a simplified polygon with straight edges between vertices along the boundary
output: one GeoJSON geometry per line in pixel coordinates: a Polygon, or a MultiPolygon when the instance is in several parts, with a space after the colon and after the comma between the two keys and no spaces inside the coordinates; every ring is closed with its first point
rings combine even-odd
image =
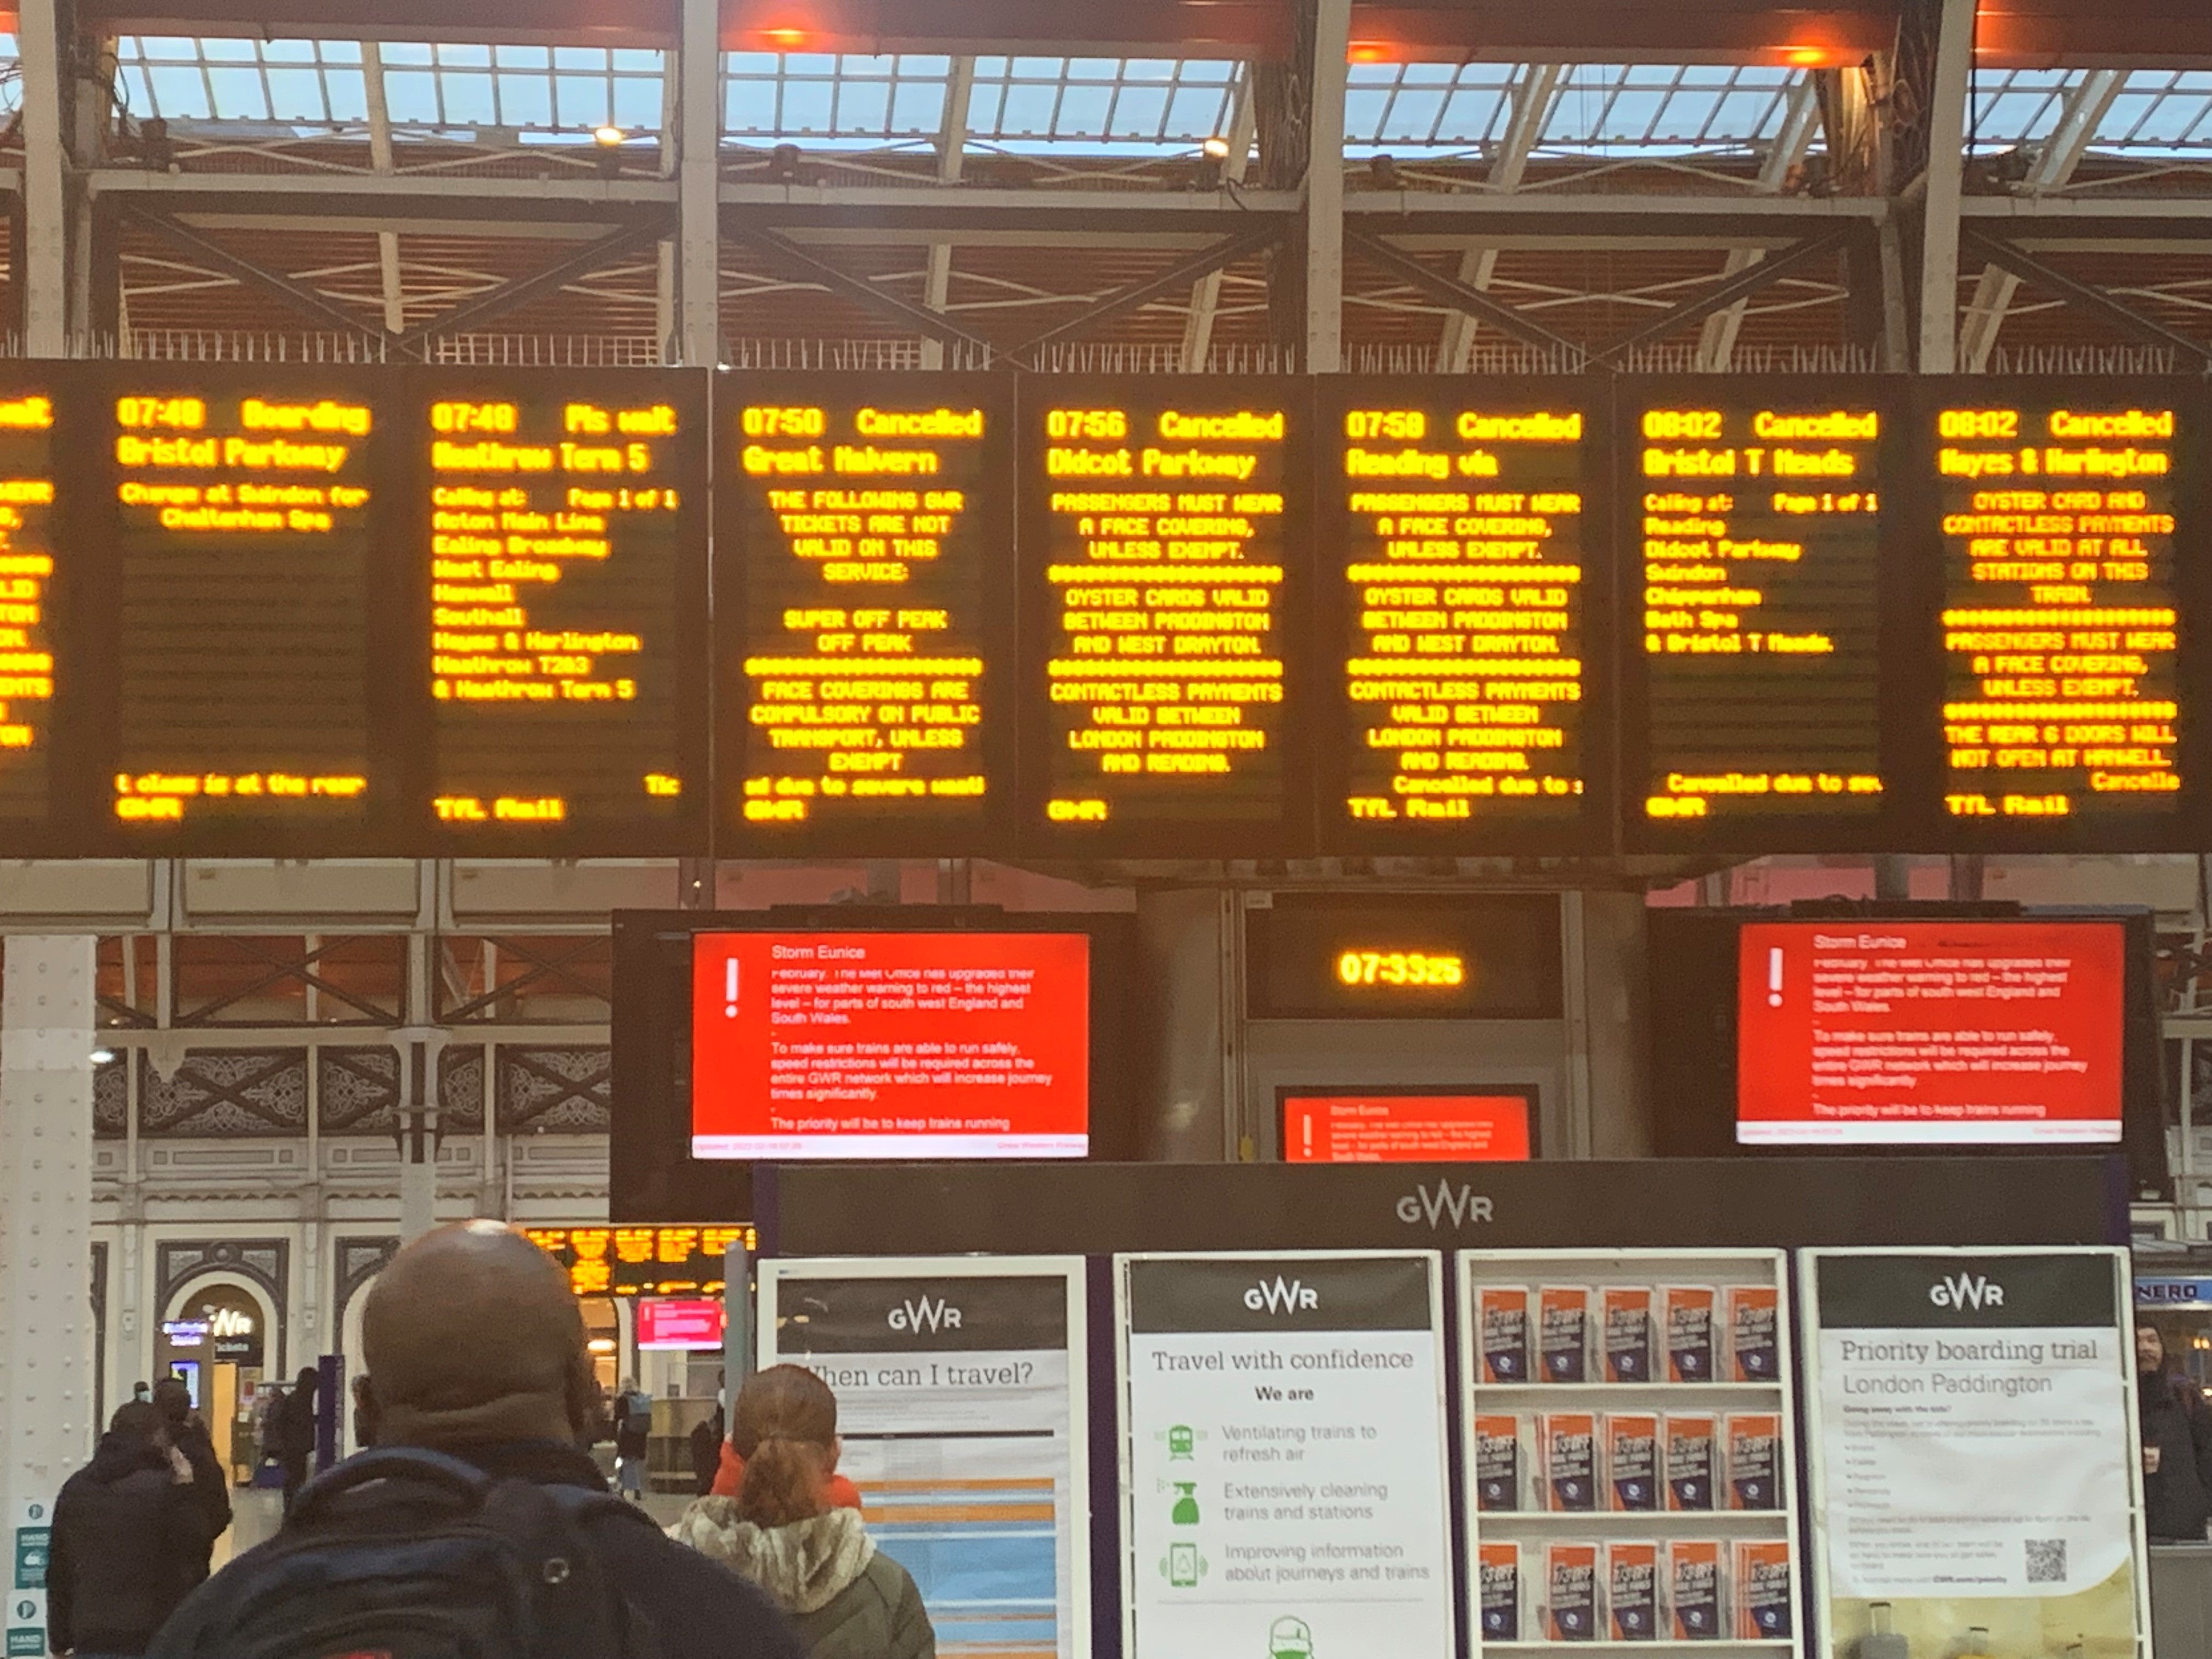
{"type": "MultiPolygon", "coordinates": [[[[584,1318],[562,1270],[524,1234],[460,1221],[416,1239],[376,1279],[361,1347],[358,1407],[374,1447],[422,1447],[502,1480],[606,1491],[586,1451],[599,1394],[584,1318]]],[[[655,1526],[617,1511],[586,1522],[584,1537],[604,1577],[650,1619],[661,1659],[803,1659],[759,1590],[655,1526]]],[[[261,1553],[208,1579],[164,1630],[161,1650],[226,1652],[228,1586],[250,1579],[261,1553]]]]}

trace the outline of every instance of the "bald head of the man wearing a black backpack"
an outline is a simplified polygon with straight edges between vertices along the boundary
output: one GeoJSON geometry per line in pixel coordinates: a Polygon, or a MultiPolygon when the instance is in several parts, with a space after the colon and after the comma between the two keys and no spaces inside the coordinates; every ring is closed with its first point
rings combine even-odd
{"type": "Polygon", "coordinates": [[[553,1259],[498,1221],[425,1232],[361,1318],[378,1444],[577,1440],[597,1405],[584,1316],[553,1259]]]}

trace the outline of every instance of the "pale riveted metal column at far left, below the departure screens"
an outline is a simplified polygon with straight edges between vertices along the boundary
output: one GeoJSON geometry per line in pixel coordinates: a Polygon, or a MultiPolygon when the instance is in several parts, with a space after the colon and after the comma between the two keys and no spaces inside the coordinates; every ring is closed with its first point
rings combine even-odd
{"type": "MultiPolygon", "coordinates": [[[[29,20],[33,7],[24,7],[29,20]]],[[[51,13],[49,13],[51,15],[51,13]]],[[[93,940],[20,933],[0,987],[0,1599],[46,1650],[53,1495],[93,1449],[93,940]],[[29,1564],[27,1564],[29,1557],[29,1564]]]]}

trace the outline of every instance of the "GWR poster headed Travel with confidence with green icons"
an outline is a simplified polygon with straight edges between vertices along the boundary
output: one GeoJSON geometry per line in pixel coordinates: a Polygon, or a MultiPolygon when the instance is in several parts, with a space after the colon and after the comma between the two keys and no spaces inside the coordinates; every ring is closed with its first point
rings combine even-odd
{"type": "Polygon", "coordinates": [[[1119,1256],[1126,1659],[1449,1659],[1442,1259],[1119,1256]]]}

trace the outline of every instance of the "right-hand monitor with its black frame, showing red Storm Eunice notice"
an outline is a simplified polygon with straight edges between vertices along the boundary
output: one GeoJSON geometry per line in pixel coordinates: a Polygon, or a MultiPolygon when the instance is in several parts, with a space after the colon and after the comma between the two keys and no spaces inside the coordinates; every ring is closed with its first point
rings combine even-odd
{"type": "Polygon", "coordinates": [[[2168,1186],[2148,911],[1655,909],[1661,1157],[2121,1152],[2168,1186]]]}

